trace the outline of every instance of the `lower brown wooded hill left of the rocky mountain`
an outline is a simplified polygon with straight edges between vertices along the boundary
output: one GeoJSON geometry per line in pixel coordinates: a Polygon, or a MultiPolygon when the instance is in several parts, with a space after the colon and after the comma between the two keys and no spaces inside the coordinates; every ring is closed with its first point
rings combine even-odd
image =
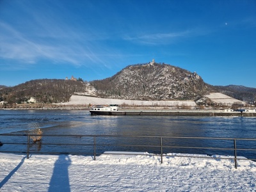
{"type": "Polygon", "coordinates": [[[7,104],[26,103],[31,97],[36,102],[51,104],[68,102],[74,92],[85,92],[86,84],[83,81],[71,81],[63,79],[37,79],[6,87],[0,90],[0,101],[7,104]]]}

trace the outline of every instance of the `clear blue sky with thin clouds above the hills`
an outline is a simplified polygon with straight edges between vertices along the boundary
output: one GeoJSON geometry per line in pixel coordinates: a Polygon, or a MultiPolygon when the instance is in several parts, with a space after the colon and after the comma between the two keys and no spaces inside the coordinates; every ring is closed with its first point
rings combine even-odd
{"type": "Polygon", "coordinates": [[[256,88],[255,0],[1,0],[0,84],[167,63],[256,88]]]}

